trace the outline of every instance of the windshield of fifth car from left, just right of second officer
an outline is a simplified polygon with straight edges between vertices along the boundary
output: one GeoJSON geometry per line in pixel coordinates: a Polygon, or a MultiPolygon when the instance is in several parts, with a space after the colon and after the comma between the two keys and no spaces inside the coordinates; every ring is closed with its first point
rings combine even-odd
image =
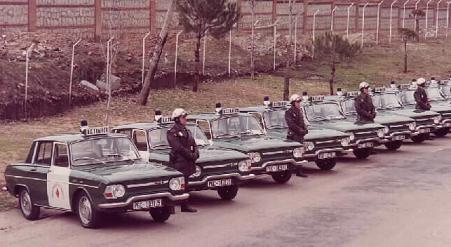
{"type": "Polygon", "coordinates": [[[304,107],[308,120],[322,121],[344,119],[340,107],[335,103],[312,104],[304,107]]]}

